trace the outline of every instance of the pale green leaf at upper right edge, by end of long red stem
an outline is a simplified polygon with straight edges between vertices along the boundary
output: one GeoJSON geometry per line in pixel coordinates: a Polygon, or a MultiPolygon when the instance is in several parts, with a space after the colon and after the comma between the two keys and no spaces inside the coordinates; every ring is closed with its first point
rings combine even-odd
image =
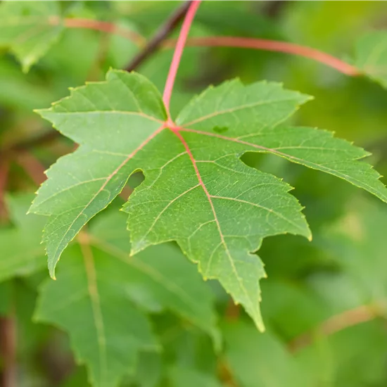
{"type": "Polygon", "coordinates": [[[355,65],[387,88],[387,31],[375,31],[360,37],[355,49],[355,65]]]}

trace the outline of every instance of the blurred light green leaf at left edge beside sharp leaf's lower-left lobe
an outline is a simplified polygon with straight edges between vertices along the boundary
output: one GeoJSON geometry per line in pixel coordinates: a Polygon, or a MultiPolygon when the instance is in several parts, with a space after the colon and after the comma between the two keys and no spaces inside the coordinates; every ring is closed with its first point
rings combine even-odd
{"type": "Polygon", "coordinates": [[[14,227],[0,230],[0,281],[32,274],[46,265],[44,246],[40,243],[42,217],[25,215],[32,198],[30,194],[7,197],[14,227]]]}

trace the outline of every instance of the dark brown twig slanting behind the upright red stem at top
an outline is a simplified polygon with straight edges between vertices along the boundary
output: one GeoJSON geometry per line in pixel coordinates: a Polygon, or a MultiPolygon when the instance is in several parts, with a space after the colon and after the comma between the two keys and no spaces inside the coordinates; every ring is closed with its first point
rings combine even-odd
{"type": "Polygon", "coordinates": [[[170,18],[165,20],[165,23],[161,25],[153,38],[146,44],[144,50],[135,56],[132,62],[127,65],[127,71],[132,71],[137,68],[146,60],[146,58],[148,58],[148,56],[151,56],[151,54],[158,49],[161,42],[175,30],[179,22],[184,18],[184,15],[186,15],[186,12],[193,1],[195,0],[185,1],[174,13],[172,13],[172,15],[170,15],[170,18]]]}

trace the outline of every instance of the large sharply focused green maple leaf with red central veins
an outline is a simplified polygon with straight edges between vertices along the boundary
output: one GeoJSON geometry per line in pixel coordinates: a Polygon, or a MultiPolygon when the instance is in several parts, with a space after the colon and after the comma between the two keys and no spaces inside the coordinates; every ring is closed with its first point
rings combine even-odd
{"type": "Polygon", "coordinates": [[[310,230],[291,187],[247,167],[246,151],[336,175],[383,201],[379,174],[358,159],[368,153],[331,133],[284,122],[310,99],[281,84],[238,80],[209,88],[165,124],[156,88],[134,73],[110,71],[106,82],[73,89],[40,110],[80,144],[48,172],[32,212],[49,215],[44,231],[51,275],[61,252],[82,226],[121,191],[129,175],[145,181],[130,196],[132,254],[175,240],[205,279],[218,279],[263,329],[260,287],[265,277],[253,254],[262,239],[310,230]]]}

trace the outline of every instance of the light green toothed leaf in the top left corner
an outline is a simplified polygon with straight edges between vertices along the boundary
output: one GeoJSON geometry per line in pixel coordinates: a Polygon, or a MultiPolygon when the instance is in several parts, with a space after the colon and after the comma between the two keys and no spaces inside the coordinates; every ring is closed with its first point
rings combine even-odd
{"type": "Polygon", "coordinates": [[[0,4],[0,46],[11,49],[20,60],[23,71],[49,50],[61,34],[56,0],[3,0],[0,4]]]}

